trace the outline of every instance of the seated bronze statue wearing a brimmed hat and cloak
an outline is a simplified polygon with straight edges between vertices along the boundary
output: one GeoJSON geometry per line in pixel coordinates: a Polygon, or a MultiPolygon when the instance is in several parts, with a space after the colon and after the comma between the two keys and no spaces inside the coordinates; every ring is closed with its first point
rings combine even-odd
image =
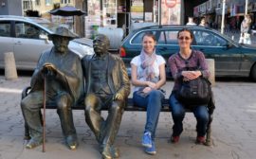
{"type": "Polygon", "coordinates": [[[42,53],[31,77],[31,90],[21,101],[31,137],[26,148],[33,149],[43,142],[41,107],[45,101],[56,106],[65,144],[70,150],[76,150],[78,139],[71,106],[76,105],[83,94],[82,65],[80,57],[68,49],[69,41],[76,35],[58,26],[48,37],[54,46],[42,53]]]}

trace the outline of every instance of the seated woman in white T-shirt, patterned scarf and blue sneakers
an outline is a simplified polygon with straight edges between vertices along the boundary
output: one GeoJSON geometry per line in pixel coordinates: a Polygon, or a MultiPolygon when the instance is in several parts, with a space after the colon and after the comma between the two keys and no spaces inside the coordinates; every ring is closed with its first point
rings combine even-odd
{"type": "Polygon", "coordinates": [[[142,146],[145,152],[155,154],[155,129],[165,97],[161,87],[166,82],[165,60],[155,52],[155,35],[147,32],[142,37],[140,55],[131,61],[132,84],[135,86],[133,100],[135,105],[147,109],[147,119],[142,146]]]}

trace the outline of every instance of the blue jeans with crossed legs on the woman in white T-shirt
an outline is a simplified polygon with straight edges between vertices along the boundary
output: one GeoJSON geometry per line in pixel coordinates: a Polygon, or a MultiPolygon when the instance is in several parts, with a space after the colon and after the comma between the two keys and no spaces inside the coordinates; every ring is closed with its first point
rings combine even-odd
{"type": "Polygon", "coordinates": [[[137,92],[133,95],[133,100],[137,107],[147,108],[147,121],[144,132],[151,132],[152,140],[155,139],[155,129],[158,123],[158,116],[162,107],[162,100],[164,95],[159,90],[153,90],[146,97],[137,95],[137,92]]]}

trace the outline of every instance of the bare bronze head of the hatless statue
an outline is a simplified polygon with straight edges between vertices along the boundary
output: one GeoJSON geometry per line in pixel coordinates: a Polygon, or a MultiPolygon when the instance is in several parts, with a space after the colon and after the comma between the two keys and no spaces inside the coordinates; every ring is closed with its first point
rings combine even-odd
{"type": "Polygon", "coordinates": [[[101,56],[107,53],[109,41],[103,36],[97,36],[93,41],[93,49],[96,55],[101,56]]]}

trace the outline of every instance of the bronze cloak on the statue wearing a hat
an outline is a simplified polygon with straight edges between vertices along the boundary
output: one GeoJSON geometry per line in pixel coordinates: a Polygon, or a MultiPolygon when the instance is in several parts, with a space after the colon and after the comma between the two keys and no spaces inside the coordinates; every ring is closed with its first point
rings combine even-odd
{"type": "MultiPolygon", "coordinates": [[[[42,91],[44,89],[44,76],[42,68],[45,63],[52,63],[56,67],[57,75],[51,82],[58,82],[62,88],[67,92],[74,101],[74,105],[82,99],[83,80],[82,80],[82,66],[80,57],[68,50],[65,55],[54,52],[54,48],[46,50],[40,57],[37,67],[32,75],[30,85],[31,92],[42,91]]],[[[51,86],[47,84],[50,91],[51,86]]]]}

